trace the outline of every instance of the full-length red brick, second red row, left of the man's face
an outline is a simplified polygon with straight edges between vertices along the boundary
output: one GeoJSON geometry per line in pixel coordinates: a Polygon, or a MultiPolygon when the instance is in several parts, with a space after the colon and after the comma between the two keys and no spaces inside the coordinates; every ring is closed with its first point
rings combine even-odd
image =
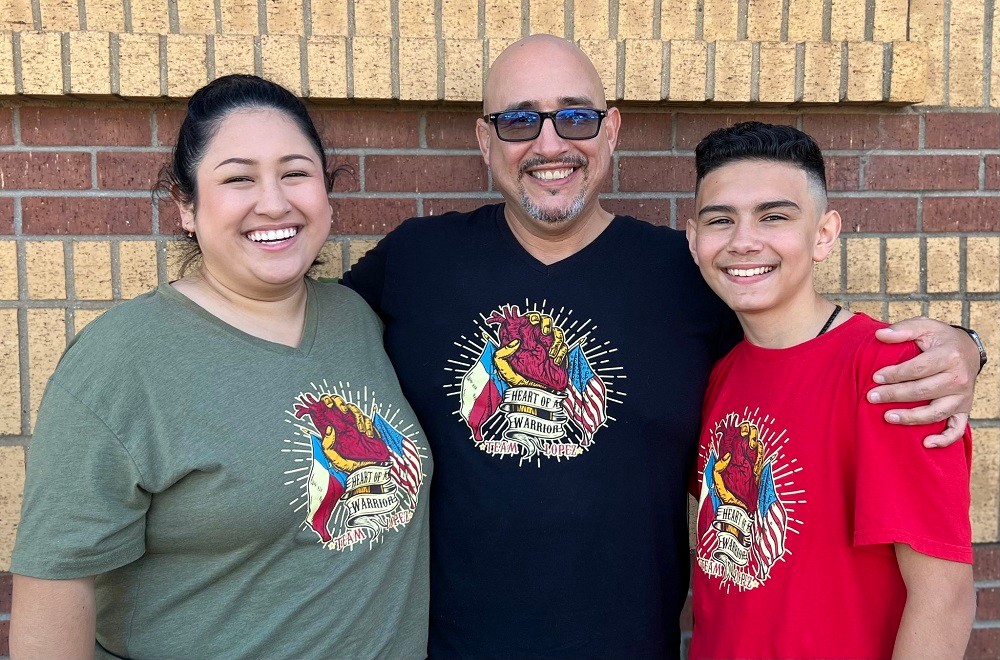
{"type": "Polygon", "coordinates": [[[390,192],[479,192],[486,168],[479,156],[368,156],[365,189],[390,192]]]}

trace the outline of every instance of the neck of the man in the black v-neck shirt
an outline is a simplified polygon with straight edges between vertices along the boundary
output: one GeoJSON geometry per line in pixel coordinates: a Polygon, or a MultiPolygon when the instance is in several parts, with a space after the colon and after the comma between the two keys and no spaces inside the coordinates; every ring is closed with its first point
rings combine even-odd
{"type": "Polygon", "coordinates": [[[611,213],[596,203],[572,220],[544,225],[534,219],[522,218],[512,209],[514,206],[509,202],[504,205],[504,218],[511,233],[528,254],[546,266],[571,257],[590,245],[614,219],[611,213]]]}

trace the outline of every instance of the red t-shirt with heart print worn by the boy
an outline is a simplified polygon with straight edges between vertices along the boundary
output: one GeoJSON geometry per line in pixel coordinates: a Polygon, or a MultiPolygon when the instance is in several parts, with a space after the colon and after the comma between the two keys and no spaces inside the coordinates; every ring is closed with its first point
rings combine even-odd
{"type": "MultiPolygon", "coordinates": [[[[872,374],[919,351],[858,314],[787,349],[743,341],[712,372],[698,461],[691,658],[892,655],[893,543],[971,563],[972,440],[896,426],[872,374]]],[[[940,425],[937,425],[938,427],[940,425]]]]}

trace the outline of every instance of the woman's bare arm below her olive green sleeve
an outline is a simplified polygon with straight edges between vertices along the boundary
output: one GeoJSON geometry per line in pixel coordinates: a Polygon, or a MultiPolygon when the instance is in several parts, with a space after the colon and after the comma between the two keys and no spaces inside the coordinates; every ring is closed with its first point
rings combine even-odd
{"type": "Polygon", "coordinates": [[[95,629],[94,578],[14,576],[10,620],[13,660],[93,658],[95,629]]]}

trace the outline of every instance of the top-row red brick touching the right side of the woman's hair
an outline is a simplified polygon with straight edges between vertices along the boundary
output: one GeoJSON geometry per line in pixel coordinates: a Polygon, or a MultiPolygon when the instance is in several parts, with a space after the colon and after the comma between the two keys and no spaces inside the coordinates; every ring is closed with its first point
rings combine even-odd
{"type": "Polygon", "coordinates": [[[310,114],[327,149],[412,149],[420,146],[416,112],[313,108],[310,114]]]}

